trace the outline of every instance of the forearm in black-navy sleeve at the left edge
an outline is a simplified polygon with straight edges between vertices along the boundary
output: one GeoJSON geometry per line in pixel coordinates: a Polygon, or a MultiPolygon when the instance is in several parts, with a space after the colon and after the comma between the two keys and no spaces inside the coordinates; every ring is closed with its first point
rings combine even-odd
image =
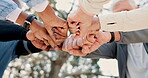
{"type": "Polygon", "coordinates": [[[23,27],[7,21],[0,22],[0,41],[28,40],[23,27]]]}

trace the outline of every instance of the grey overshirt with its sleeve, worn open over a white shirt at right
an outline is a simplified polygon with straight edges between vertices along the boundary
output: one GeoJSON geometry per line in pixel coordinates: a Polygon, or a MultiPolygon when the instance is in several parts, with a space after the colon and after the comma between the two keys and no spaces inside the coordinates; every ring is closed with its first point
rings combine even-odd
{"type": "MultiPolygon", "coordinates": [[[[121,38],[123,39],[121,41],[104,44],[96,51],[86,55],[85,58],[117,59],[120,78],[127,78],[128,49],[125,43],[147,42],[147,35],[148,30],[122,32],[121,38]]],[[[143,43],[143,45],[148,54],[148,43],[143,43]]]]}

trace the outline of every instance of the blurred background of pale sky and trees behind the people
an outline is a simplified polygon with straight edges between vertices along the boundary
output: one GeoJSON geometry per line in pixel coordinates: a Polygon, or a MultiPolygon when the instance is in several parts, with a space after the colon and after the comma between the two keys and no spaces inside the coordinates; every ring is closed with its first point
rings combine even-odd
{"type": "MultiPolygon", "coordinates": [[[[34,13],[39,18],[21,0],[14,1],[18,1],[18,6],[24,11],[34,13]]],[[[49,2],[56,15],[65,20],[78,5],[78,0],[49,0],[49,2]]],[[[101,14],[111,13],[111,3],[112,1],[104,5],[101,14]]],[[[139,6],[145,3],[147,0],[136,0],[139,6]]],[[[3,78],[118,78],[118,65],[114,59],[86,59],[62,51],[43,51],[12,61],[3,78]]]]}

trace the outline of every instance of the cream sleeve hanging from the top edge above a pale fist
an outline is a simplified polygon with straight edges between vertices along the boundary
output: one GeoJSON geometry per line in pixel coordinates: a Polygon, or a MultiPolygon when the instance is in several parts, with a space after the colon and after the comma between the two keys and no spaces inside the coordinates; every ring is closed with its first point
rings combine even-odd
{"type": "Polygon", "coordinates": [[[81,9],[87,14],[96,15],[100,13],[103,5],[110,0],[79,0],[81,9]]]}

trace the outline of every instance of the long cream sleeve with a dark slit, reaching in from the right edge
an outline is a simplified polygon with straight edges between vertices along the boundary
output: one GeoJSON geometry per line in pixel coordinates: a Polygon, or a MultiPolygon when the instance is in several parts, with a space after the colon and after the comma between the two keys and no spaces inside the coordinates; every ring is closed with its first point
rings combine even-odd
{"type": "Polygon", "coordinates": [[[99,20],[101,29],[106,31],[148,29],[148,5],[132,11],[101,15],[99,20]]]}

